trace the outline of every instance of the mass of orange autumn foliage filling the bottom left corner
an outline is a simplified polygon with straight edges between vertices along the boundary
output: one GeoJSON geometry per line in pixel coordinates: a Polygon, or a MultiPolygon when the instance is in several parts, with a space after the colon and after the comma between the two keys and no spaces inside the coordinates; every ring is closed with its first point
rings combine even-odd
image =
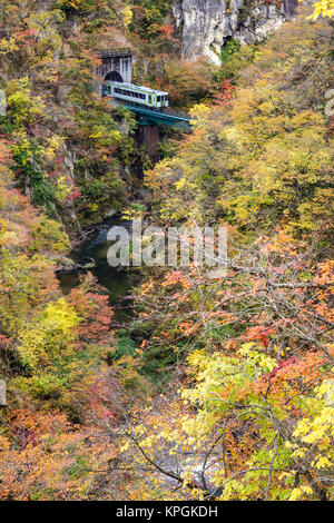
{"type": "Polygon", "coordinates": [[[57,412],[13,411],[0,443],[1,501],[87,499],[95,471],[107,471],[116,455],[98,430],[79,428],[57,412]]]}

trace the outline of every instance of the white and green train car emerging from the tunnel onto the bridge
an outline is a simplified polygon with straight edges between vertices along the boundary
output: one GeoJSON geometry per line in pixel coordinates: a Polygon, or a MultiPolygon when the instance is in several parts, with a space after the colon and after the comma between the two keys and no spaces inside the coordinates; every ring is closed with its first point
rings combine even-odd
{"type": "Polygon", "coordinates": [[[169,106],[168,92],[119,81],[106,81],[102,88],[102,96],[115,98],[115,100],[126,105],[159,111],[166,110],[169,106]]]}

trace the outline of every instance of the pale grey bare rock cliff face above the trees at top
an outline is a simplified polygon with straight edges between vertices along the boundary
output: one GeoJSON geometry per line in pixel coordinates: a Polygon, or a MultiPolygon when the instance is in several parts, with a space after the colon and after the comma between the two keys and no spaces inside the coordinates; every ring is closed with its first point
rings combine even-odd
{"type": "Polygon", "coordinates": [[[254,43],[279,28],[295,12],[297,0],[173,0],[177,27],[183,28],[183,56],[206,56],[219,65],[228,37],[254,43]]]}

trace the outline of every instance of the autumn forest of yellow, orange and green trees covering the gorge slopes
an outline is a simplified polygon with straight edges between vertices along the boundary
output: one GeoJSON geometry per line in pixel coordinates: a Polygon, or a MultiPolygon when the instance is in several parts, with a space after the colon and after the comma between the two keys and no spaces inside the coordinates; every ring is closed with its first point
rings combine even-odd
{"type": "Polygon", "coordinates": [[[0,500],[333,501],[333,2],[219,65],[167,0],[2,4],[0,500]],[[114,48],[190,119],[154,155],[114,48]],[[225,227],[224,276],[71,259],[134,217],[225,227]]]}

